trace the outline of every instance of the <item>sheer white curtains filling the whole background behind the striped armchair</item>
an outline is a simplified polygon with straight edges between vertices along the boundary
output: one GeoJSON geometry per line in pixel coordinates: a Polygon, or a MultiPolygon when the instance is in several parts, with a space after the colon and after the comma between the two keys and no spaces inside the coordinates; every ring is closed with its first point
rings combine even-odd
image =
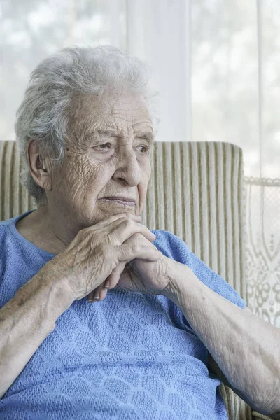
{"type": "Polygon", "coordinates": [[[280,1],[0,0],[0,139],[40,59],[108,43],[155,69],[157,139],[243,149],[248,305],[280,327],[280,1]]]}

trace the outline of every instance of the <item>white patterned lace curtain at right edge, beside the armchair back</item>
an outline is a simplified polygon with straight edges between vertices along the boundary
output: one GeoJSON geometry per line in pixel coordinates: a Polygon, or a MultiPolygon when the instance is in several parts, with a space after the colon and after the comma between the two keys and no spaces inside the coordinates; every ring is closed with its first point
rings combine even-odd
{"type": "Polygon", "coordinates": [[[247,301],[280,328],[280,180],[246,179],[247,301]]]}

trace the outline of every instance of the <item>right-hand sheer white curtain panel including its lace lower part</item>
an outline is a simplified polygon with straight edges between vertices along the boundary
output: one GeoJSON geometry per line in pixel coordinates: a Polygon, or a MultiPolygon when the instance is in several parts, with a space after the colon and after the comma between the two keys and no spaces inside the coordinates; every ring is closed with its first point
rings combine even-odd
{"type": "Polygon", "coordinates": [[[192,138],[244,150],[248,306],[280,327],[280,2],[196,0],[191,16],[192,138]]]}

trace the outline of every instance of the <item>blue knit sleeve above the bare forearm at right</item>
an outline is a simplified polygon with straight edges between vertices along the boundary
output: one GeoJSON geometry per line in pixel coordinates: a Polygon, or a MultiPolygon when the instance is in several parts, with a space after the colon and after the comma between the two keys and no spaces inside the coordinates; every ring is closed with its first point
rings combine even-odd
{"type": "Polygon", "coordinates": [[[182,239],[164,230],[153,230],[157,239],[155,246],[167,257],[172,258],[181,264],[188,265],[198,279],[214,292],[225,297],[225,299],[236,304],[241,309],[246,307],[246,302],[239,296],[237,291],[230,286],[221,276],[207,267],[200,258],[190,251],[182,239]]]}

